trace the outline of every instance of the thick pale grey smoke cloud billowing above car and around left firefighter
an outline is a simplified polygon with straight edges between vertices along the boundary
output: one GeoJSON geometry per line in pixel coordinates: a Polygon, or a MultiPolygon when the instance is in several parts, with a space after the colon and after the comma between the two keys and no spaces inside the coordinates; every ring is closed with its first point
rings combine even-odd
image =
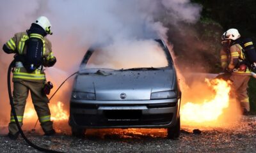
{"type": "MultiPolygon", "coordinates": [[[[173,27],[178,27],[180,23],[193,24],[200,17],[200,10],[200,6],[189,0],[4,0],[0,2],[0,42],[3,45],[14,33],[28,29],[37,17],[48,17],[53,35],[47,38],[52,42],[57,63],[54,68],[47,68],[46,73],[47,80],[51,80],[54,89],[57,89],[61,80],[78,70],[88,48],[103,45],[109,48],[105,52],[106,57],[113,58],[114,54],[118,58],[120,55],[112,48],[126,45],[143,55],[140,48],[146,40],[161,38],[168,41],[170,27],[165,27],[166,23],[173,27]]],[[[154,43],[151,45],[154,46],[154,43]]],[[[134,54],[129,49],[125,49],[125,52],[134,54]]],[[[102,61],[106,60],[104,58],[102,61]]],[[[150,61],[161,63],[159,59],[150,61]]],[[[0,53],[0,71],[3,75],[0,108],[6,110],[0,115],[1,119],[6,120],[9,119],[10,106],[4,76],[11,60],[12,55],[0,53]]],[[[72,80],[63,85],[53,100],[63,101],[67,108],[71,89],[72,80]]]]}

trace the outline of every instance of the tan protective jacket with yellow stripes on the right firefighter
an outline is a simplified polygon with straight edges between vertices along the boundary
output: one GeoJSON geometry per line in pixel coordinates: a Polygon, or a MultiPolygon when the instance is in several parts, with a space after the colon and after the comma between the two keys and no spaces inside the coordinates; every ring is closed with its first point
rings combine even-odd
{"type": "MultiPolygon", "coordinates": [[[[221,67],[223,69],[234,69],[239,62],[245,59],[243,54],[243,48],[238,43],[230,46],[229,48],[223,47],[220,51],[221,67]]],[[[248,75],[250,76],[250,70],[246,68],[246,71],[234,71],[232,75],[248,75]]]]}

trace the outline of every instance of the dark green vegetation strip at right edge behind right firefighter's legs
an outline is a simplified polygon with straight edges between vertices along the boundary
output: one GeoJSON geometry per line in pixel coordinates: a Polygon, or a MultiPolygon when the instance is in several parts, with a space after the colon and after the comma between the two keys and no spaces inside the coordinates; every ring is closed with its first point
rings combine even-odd
{"type": "Polygon", "coordinates": [[[250,110],[256,112],[256,79],[251,78],[249,84],[250,110]]]}

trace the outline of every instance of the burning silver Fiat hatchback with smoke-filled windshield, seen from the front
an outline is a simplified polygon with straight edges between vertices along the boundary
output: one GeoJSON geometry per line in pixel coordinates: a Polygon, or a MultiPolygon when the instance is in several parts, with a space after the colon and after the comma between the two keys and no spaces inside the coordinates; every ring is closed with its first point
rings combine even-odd
{"type": "Polygon", "coordinates": [[[165,64],[141,67],[147,52],[138,60],[142,65],[124,65],[125,59],[99,48],[86,52],[70,99],[72,135],[84,136],[86,128],[167,128],[168,138],[179,138],[181,92],[172,56],[162,40],[152,41],[165,64]]]}

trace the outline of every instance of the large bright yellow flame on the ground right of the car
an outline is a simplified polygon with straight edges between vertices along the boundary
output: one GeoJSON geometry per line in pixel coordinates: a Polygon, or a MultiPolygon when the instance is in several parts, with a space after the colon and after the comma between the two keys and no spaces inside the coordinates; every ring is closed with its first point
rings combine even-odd
{"type": "Polygon", "coordinates": [[[180,108],[180,119],[189,125],[205,122],[214,123],[217,121],[223,110],[229,106],[230,82],[221,79],[209,80],[205,82],[215,92],[211,100],[204,99],[202,103],[188,102],[180,108]]]}

